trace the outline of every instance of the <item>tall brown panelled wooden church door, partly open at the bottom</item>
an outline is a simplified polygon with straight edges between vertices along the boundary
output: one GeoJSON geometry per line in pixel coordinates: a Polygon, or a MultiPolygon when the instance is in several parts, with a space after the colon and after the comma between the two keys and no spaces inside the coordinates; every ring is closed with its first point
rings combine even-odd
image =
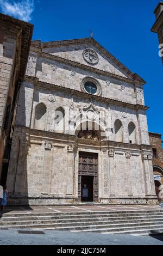
{"type": "Polygon", "coordinates": [[[98,202],[98,154],[79,153],[78,200],[98,202]]]}

